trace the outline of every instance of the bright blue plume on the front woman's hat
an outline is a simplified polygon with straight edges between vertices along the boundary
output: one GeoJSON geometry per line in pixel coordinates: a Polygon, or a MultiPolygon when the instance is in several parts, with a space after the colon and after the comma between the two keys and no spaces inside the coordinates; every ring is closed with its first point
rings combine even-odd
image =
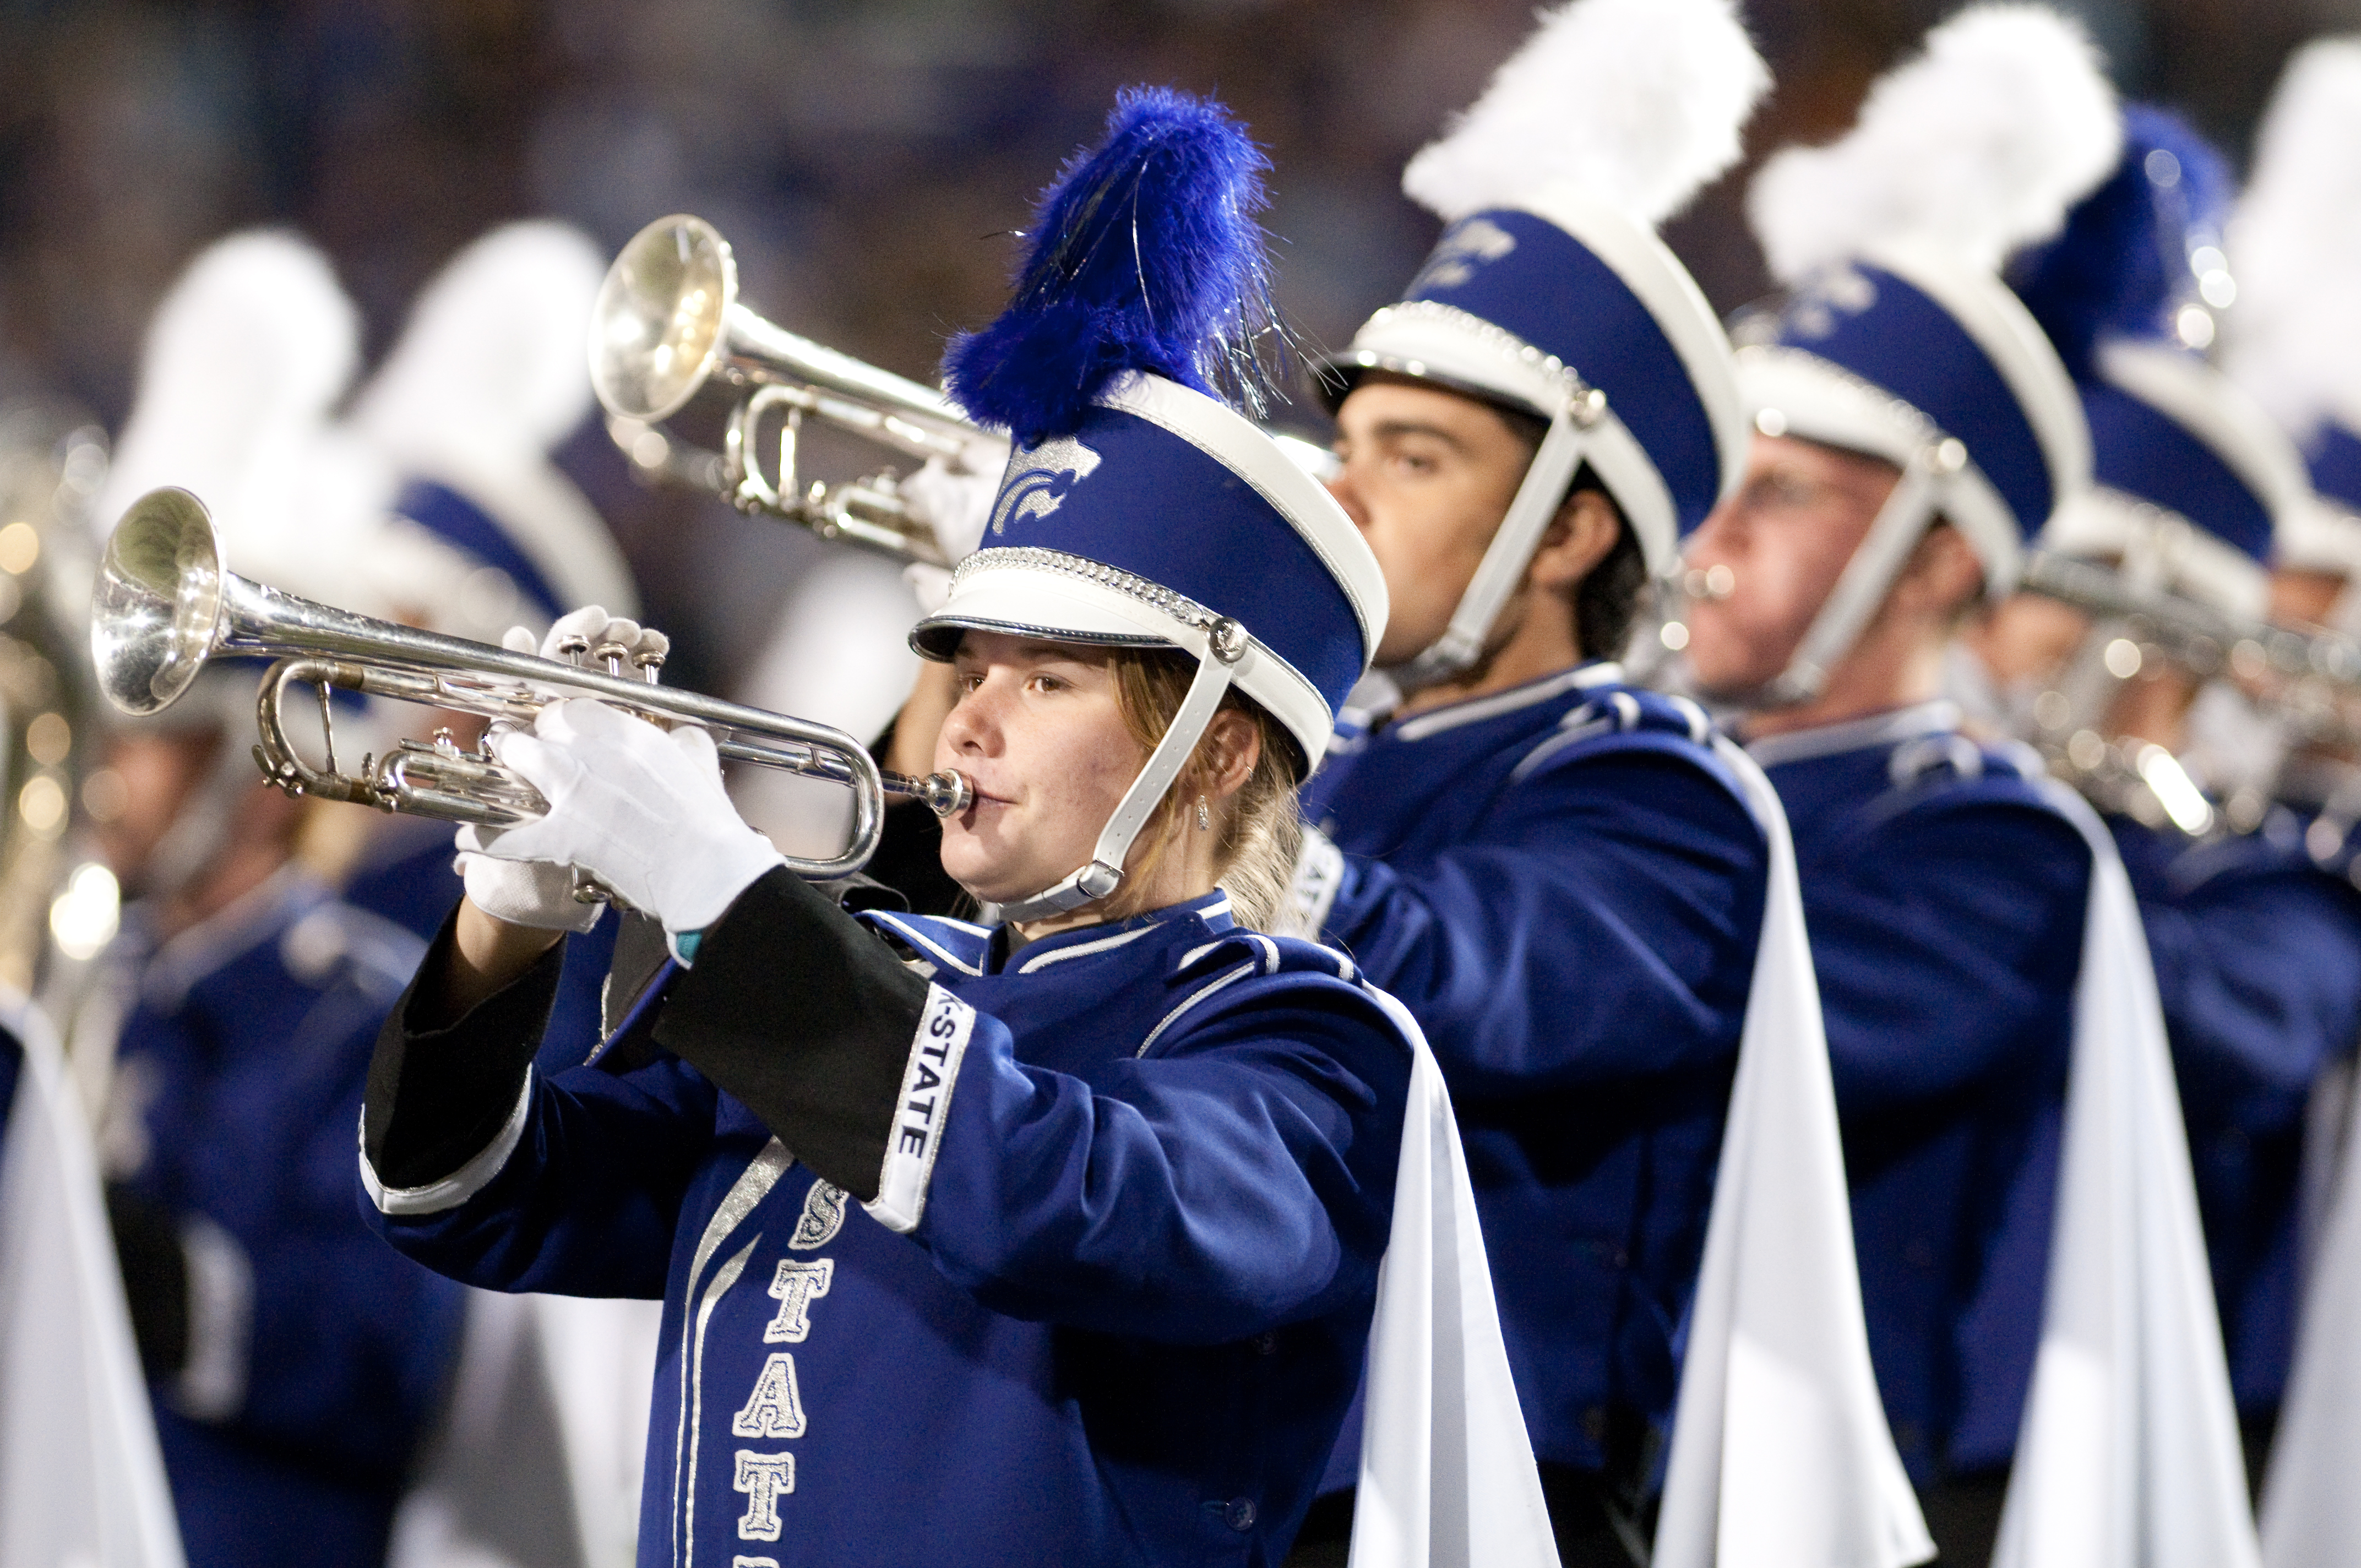
{"type": "Polygon", "coordinates": [[[949,394],[1025,446],[1072,435],[1126,371],[1258,413],[1277,319],[1254,220],[1268,168],[1221,104],[1124,90],[1105,142],[1041,194],[1008,309],[951,340],[949,394]]]}

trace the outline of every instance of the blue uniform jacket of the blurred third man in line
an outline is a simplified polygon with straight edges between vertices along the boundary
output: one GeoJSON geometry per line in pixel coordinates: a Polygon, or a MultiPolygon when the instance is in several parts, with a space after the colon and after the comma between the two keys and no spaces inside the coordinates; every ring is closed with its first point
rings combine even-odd
{"type": "Polygon", "coordinates": [[[1886,1422],[2007,1464],[2047,1287],[2089,848],[1950,704],[1754,741],[1787,805],[1886,1422]]]}

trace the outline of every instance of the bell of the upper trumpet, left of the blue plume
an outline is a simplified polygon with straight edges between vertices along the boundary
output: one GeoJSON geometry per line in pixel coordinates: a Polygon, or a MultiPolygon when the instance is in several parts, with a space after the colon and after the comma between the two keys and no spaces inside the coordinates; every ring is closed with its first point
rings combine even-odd
{"type": "Polygon", "coordinates": [[[607,269],[590,333],[590,385],[623,418],[680,413],[722,361],[737,262],[701,217],[640,229],[607,269]]]}

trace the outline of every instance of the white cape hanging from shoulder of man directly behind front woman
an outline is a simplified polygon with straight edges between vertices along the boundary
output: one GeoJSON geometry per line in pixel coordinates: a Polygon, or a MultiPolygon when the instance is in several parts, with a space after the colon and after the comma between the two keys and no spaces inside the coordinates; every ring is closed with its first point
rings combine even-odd
{"type": "Polygon", "coordinates": [[[1771,878],[1690,1308],[1655,1568],[1903,1568],[1934,1556],[1870,1367],[1853,1211],[1794,843],[1716,741],[1771,878]]]}

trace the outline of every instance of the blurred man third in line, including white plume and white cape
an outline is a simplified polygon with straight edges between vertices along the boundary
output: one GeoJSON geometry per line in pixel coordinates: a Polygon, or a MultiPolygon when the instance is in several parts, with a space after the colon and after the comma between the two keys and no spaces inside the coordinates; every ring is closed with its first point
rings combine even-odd
{"type": "Polygon", "coordinates": [[[1773,158],[1750,205],[1794,295],[1742,333],[1754,456],[1688,550],[1693,673],[1754,708],[1794,824],[1870,1346],[1945,1561],[1995,1533],[2004,1563],[2132,1561],[2158,1530],[2252,1561],[2137,909],[2087,808],[1938,701],[2089,475],[1995,272],[2118,146],[2082,33],[1988,5],[1773,158]]]}

